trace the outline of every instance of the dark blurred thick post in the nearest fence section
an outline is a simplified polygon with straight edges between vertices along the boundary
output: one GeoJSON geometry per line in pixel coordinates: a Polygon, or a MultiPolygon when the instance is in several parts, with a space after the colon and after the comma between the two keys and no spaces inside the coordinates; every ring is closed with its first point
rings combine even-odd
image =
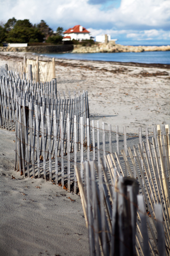
{"type": "Polygon", "coordinates": [[[115,233],[113,234],[115,238],[119,238],[117,244],[115,240],[114,248],[114,251],[119,251],[119,254],[115,253],[115,255],[136,255],[135,234],[138,189],[139,185],[135,179],[119,177],[116,184],[117,200],[114,216],[114,218],[118,219],[115,220],[115,233]]]}

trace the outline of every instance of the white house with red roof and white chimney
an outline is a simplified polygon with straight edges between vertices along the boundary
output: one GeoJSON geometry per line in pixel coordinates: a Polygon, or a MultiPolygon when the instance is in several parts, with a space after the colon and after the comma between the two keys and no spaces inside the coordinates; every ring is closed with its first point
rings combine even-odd
{"type": "Polygon", "coordinates": [[[90,39],[90,32],[85,29],[85,27],[76,25],[72,28],[67,29],[64,33],[63,41],[68,40],[89,40],[90,39]]]}

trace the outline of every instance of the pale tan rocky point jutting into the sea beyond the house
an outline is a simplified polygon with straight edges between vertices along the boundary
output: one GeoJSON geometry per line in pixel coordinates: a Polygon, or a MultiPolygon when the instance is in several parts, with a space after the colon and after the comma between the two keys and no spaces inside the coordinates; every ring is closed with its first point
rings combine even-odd
{"type": "Polygon", "coordinates": [[[170,45],[167,46],[131,46],[115,45],[112,42],[98,43],[91,46],[74,45],[72,53],[96,53],[96,52],[153,52],[169,51],[170,45]]]}

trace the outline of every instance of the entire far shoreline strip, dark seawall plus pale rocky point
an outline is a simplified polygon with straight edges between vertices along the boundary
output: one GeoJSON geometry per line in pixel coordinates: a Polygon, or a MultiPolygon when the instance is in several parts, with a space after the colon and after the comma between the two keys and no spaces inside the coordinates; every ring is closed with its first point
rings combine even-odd
{"type": "Polygon", "coordinates": [[[82,45],[61,45],[56,46],[27,46],[27,47],[0,47],[1,52],[72,52],[72,53],[97,53],[97,52],[149,52],[149,51],[169,51],[170,45],[163,46],[131,46],[131,45],[115,45],[113,42],[97,43],[91,46],[82,45]],[[73,49],[73,50],[72,50],[73,49]]]}

